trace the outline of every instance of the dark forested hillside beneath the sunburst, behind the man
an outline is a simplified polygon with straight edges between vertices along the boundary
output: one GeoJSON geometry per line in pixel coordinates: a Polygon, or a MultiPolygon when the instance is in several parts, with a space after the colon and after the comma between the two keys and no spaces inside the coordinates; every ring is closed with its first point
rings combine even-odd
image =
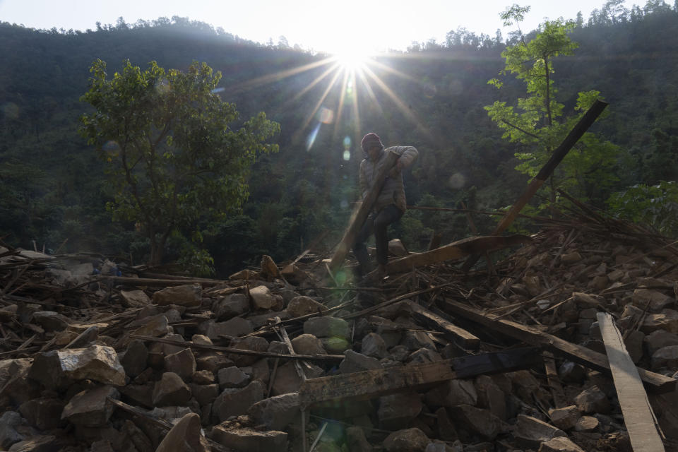
{"type": "MultiPolygon", "coordinates": [[[[577,186],[576,196],[611,215],[625,211],[648,220],[638,211],[645,192],[636,201],[629,201],[633,191],[626,198],[613,195],[677,179],[678,4],[649,0],[630,11],[618,6],[608,1],[588,19],[572,18],[569,37],[578,48],[554,57],[552,81],[565,114],[583,91],[597,90],[609,102],[591,129],[616,145],[609,184],[588,182],[577,186]]],[[[1,23],[0,236],[24,247],[35,240],[53,252],[97,251],[133,263],[148,257],[148,241],[133,224],[112,222],[105,205],[114,193],[105,162],[78,133],[81,115],[93,111],[80,98],[96,59],[107,63],[109,75],[125,59],[141,69],[157,61],[182,71],[204,62],[221,71],[215,93],[234,102],[239,124],[258,112],[280,124],[270,140],[279,151],[258,158],[242,211],[202,227],[201,246],[219,274],[263,253],[283,261],[326,231],[324,243],[335,243],[358,198],[359,141],[369,131],[387,146],[420,150],[405,174],[410,205],[505,207],[528,182],[516,171],[514,155],[534,146],[503,139],[484,107],[496,100],[516,105],[525,97],[522,81],[500,75],[506,64],[501,52],[519,39],[452,30],[446,42],[413,43],[407,52],[375,57],[354,78],[326,55],[290,48],[284,39],[258,44],[186,18],[133,25],[120,19],[86,32],[1,23]],[[501,80],[501,90],[488,85],[492,78],[501,80]]],[[[678,211],[671,198],[678,195],[672,184],[662,187],[656,214],[665,219],[678,211]]],[[[476,221],[482,233],[494,220],[476,221]]],[[[417,250],[434,230],[444,241],[470,234],[465,216],[424,210],[408,211],[397,232],[417,250]]],[[[178,248],[170,239],[167,258],[176,257],[178,248]]]]}

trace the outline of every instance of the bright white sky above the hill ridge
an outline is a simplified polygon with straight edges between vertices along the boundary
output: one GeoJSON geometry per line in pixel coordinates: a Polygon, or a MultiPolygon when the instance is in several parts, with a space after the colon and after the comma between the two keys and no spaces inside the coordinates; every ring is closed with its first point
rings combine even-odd
{"type": "MultiPolygon", "coordinates": [[[[499,13],[518,2],[530,5],[523,30],[533,30],[544,18],[573,19],[605,0],[0,0],[0,20],[30,28],[95,29],[97,21],[115,24],[158,17],[188,17],[222,27],[233,35],[265,43],[278,43],[336,52],[346,47],[371,50],[402,49],[413,41],[434,38],[444,42],[446,32],[465,27],[480,35],[504,37],[499,13]]],[[[630,8],[632,0],[626,0],[630,8]]],[[[643,0],[636,1],[643,6],[643,0]]]]}

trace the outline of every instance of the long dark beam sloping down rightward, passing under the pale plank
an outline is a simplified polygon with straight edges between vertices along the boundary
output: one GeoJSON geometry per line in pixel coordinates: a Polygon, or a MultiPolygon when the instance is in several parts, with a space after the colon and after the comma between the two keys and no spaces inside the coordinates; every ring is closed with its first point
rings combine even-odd
{"type": "MultiPolygon", "coordinates": [[[[612,374],[612,371],[609,369],[609,360],[602,353],[594,352],[582,345],[570,343],[554,335],[539,331],[536,328],[521,325],[521,323],[498,319],[498,316],[494,314],[485,314],[465,304],[445,300],[443,306],[444,311],[450,314],[463,316],[465,319],[480,323],[480,325],[487,326],[494,331],[508,335],[511,338],[516,338],[524,343],[544,347],[559,355],[569,357],[574,362],[583,364],[590,369],[604,372],[607,375],[612,374]]],[[[655,372],[650,372],[639,367],[638,374],[641,376],[643,383],[646,383],[652,391],[665,393],[673,391],[676,387],[676,380],[668,376],[655,374],[655,372]]]]}

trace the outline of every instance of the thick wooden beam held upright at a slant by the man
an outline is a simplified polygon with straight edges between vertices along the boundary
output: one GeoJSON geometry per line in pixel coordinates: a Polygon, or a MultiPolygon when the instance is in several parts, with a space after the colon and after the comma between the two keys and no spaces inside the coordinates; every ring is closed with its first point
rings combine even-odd
{"type": "Polygon", "coordinates": [[[369,191],[367,192],[367,196],[365,196],[365,198],[362,200],[362,203],[360,203],[360,205],[351,215],[351,220],[346,231],[344,232],[344,237],[341,239],[341,242],[339,242],[336,251],[334,251],[332,258],[330,259],[328,270],[331,274],[334,274],[344,262],[348,251],[355,243],[355,237],[357,237],[358,232],[360,232],[360,228],[362,228],[365,220],[367,220],[367,216],[374,207],[376,199],[379,198],[379,192],[381,192],[383,183],[386,182],[386,176],[388,176],[388,172],[391,171],[393,165],[396,164],[396,160],[398,160],[399,157],[400,155],[388,151],[386,157],[383,158],[383,163],[379,167],[379,172],[376,174],[374,184],[372,184],[370,187],[369,191]]]}

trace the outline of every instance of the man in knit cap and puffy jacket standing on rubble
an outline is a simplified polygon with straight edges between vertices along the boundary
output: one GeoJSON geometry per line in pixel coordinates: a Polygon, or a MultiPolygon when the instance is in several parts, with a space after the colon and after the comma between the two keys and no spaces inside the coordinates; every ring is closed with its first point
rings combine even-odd
{"type": "Polygon", "coordinates": [[[369,189],[376,179],[381,165],[386,161],[388,152],[400,155],[396,160],[396,165],[388,173],[386,182],[379,192],[379,196],[374,204],[374,210],[370,213],[362,229],[358,233],[353,254],[358,259],[357,275],[364,276],[371,271],[369,254],[365,241],[374,232],[376,241],[376,262],[379,264],[379,275],[386,274],[386,263],[388,262],[388,236],[386,231],[388,225],[400,220],[405,213],[407,203],[405,202],[405,187],[403,186],[402,170],[410,167],[415,162],[419,152],[412,146],[391,146],[383,148],[381,138],[376,133],[367,133],[360,142],[362,151],[365,155],[364,160],[360,162],[360,190],[362,199],[367,196],[369,189]]]}

